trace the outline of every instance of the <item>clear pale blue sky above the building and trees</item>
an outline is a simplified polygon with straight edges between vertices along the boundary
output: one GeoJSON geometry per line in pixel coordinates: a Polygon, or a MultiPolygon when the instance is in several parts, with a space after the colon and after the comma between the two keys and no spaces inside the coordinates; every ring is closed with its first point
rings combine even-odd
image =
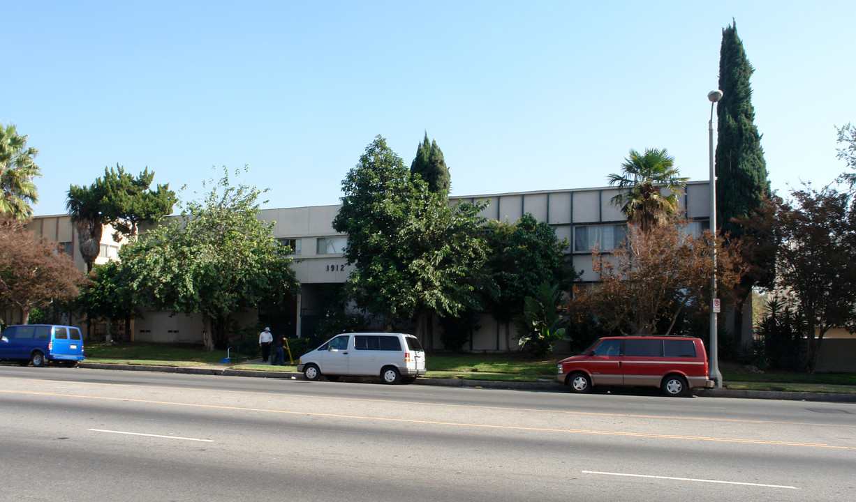
{"type": "Polygon", "coordinates": [[[0,121],[40,151],[37,215],[117,162],[185,199],[248,164],[265,207],[338,204],[375,135],[409,166],[425,131],[454,195],[604,186],[631,148],[706,180],[732,18],[780,194],[844,171],[835,126],[856,121],[852,0],[0,7],[0,121]]]}

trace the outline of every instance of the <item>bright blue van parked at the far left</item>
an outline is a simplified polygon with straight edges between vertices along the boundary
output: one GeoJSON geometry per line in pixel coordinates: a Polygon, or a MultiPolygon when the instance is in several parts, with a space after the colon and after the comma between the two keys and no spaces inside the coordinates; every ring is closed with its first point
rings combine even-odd
{"type": "Polygon", "coordinates": [[[0,359],[12,359],[27,366],[49,362],[74,368],[83,360],[83,337],[74,326],[26,324],[9,326],[0,334],[0,359]]]}

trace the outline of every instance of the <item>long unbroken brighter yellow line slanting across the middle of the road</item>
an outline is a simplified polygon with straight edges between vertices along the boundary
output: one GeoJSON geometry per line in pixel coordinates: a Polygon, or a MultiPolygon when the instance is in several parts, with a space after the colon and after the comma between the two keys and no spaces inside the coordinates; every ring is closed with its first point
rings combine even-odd
{"type": "Polygon", "coordinates": [[[77,394],[61,394],[61,393],[45,393],[36,391],[9,391],[0,389],[0,393],[7,394],[24,394],[33,396],[50,396],[56,398],[77,398],[77,399],[98,399],[104,401],[122,401],[126,403],[142,403],[146,405],[172,405],[172,406],[188,406],[192,408],[207,408],[213,410],[233,410],[233,411],[255,411],[261,413],[276,413],[282,415],[301,415],[301,416],[323,416],[328,418],[344,418],[351,420],[370,420],[377,422],[398,422],[398,423],[418,423],[422,425],[443,425],[450,427],[467,427],[467,428],[485,428],[485,429],[502,429],[502,430],[519,430],[519,431],[534,431],[534,432],[554,432],[554,433],[572,433],[572,434],[597,434],[623,437],[637,437],[646,439],[667,439],[667,440],[697,440],[697,441],[714,441],[722,443],[747,443],[752,445],[774,445],[774,446],[805,446],[812,448],[831,448],[838,450],[856,450],[856,446],[834,446],[823,443],[800,443],[795,441],[772,441],[772,440],[744,440],[739,438],[716,438],[704,436],[681,436],[675,434],[645,434],[645,433],[629,433],[609,430],[590,430],[581,428],[540,428],[540,427],[520,427],[513,425],[490,425],[484,423],[466,423],[466,422],[440,422],[436,420],[415,420],[412,418],[387,418],[383,416],[360,416],[360,415],[339,415],[335,413],[312,413],[306,411],[288,411],[288,410],[270,410],[265,408],[246,408],[241,406],[223,406],[223,405],[200,405],[198,403],[177,403],[173,401],[153,401],[149,399],[128,399],[128,398],[106,398],[101,396],[83,396],[77,394]]]}

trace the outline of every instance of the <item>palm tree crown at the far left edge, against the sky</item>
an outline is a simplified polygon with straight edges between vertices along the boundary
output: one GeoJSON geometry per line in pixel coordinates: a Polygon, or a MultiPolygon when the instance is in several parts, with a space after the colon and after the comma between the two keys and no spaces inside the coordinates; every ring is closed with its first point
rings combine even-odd
{"type": "Polygon", "coordinates": [[[30,204],[39,202],[33,179],[41,176],[35,158],[39,151],[27,146],[27,135],[17,133],[14,124],[0,123],[0,213],[16,220],[33,216],[30,204]]]}

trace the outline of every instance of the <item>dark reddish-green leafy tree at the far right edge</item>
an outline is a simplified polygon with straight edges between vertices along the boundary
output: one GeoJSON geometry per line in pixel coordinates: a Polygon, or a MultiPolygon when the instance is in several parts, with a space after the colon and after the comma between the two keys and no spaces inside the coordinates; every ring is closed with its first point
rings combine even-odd
{"type": "Polygon", "coordinates": [[[856,331],[856,211],[853,196],[824,187],[791,192],[778,201],[778,284],[798,306],[805,331],[803,369],[813,372],[823,335],[856,331]]]}

